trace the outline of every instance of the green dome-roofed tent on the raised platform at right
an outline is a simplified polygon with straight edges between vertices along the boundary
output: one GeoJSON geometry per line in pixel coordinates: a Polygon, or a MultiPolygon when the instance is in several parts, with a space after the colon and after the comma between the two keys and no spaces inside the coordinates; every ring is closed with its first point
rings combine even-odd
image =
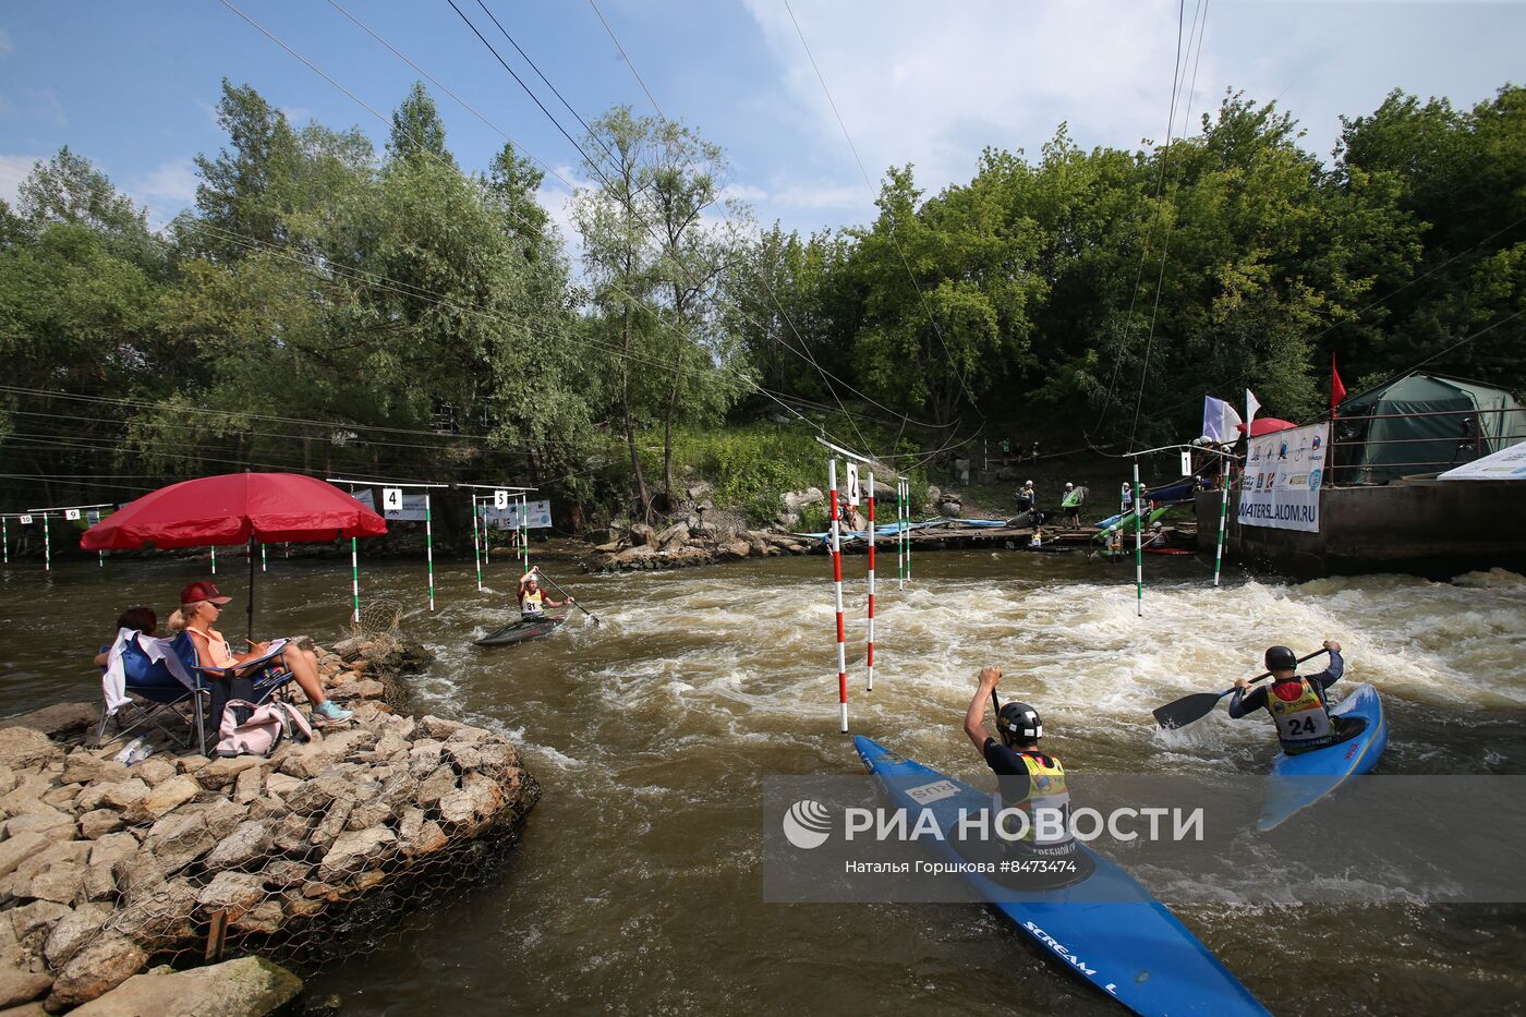
{"type": "Polygon", "coordinates": [[[1526,412],[1502,388],[1415,373],[1343,402],[1334,435],[1334,483],[1387,484],[1526,440],[1526,412]]]}

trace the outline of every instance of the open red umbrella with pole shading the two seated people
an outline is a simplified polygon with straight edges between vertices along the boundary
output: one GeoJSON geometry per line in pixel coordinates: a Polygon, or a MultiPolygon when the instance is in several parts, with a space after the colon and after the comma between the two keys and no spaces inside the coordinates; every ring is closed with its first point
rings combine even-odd
{"type": "Polygon", "coordinates": [[[255,628],[255,542],[382,536],[386,521],[313,476],[226,473],[171,484],[84,531],[87,551],[249,544],[249,629],[255,628]]]}

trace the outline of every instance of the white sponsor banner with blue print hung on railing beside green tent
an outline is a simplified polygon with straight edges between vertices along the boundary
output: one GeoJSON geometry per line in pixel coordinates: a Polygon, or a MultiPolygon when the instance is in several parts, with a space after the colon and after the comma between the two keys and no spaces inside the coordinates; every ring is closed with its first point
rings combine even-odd
{"type": "Polygon", "coordinates": [[[1318,533],[1328,461],[1329,421],[1251,438],[1241,481],[1239,524],[1318,533]]]}

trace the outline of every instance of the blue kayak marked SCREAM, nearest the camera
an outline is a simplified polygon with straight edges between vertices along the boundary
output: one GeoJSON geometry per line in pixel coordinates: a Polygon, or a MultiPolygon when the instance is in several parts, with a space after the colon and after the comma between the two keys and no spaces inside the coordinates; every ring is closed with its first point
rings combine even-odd
{"type": "MultiPolygon", "coordinates": [[[[853,744],[893,805],[909,814],[926,809],[945,832],[955,828],[961,809],[974,814],[990,806],[990,794],[902,759],[862,734],[853,744]],[[949,786],[955,793],[926,803],[911,797],[934,782],[940,793],[949,786]]],[[[931,843],[960,861],[949,841],[931,843]]],[[[1058,889],[1013,892],[975,872],[963,878],[1019,931],[1135,1014],[1267,1014],[1134,877],[1085,846],[1079,854],[1090,872],[1058,889]]]]}

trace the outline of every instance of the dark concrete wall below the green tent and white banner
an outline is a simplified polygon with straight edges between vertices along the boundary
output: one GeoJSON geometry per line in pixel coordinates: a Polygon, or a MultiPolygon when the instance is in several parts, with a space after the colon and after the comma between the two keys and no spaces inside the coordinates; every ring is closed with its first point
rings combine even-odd
{"type": "MultiPolygon", "coordinates": [[[[1526,571],[1526,483],[1421,481],[1328,487],[1320,531],[1241,527],[1230,493],[1225,554],[1297,577],[1418,573],[1451,577],[1477,568],[1526,571]]],[[[1196,496],[1198,545],[1218,539],[1219,492],[1196,496]]]]}

